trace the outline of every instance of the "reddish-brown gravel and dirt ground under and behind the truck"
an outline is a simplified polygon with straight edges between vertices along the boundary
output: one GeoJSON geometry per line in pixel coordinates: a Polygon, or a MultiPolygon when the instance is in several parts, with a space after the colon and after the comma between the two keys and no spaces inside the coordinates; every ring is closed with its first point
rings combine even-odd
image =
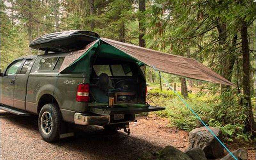
{"type": "MultiPolygon", "coordinates": [[[[188,132],[168,127],[168,120],[155,116],[130,123],[131,134],[107,134],[102,127],[76,127],[76,136],[55,143],[45,142],[37,116],[17,116],[1,111],[1,159],[138,159],[167,145],[185,151],[188,132]]],[[[228,145],[235,150],[243,146],[228,145]]],[[[255,159],[255,146],[245,145],[248,159],[255,159]]]]}

